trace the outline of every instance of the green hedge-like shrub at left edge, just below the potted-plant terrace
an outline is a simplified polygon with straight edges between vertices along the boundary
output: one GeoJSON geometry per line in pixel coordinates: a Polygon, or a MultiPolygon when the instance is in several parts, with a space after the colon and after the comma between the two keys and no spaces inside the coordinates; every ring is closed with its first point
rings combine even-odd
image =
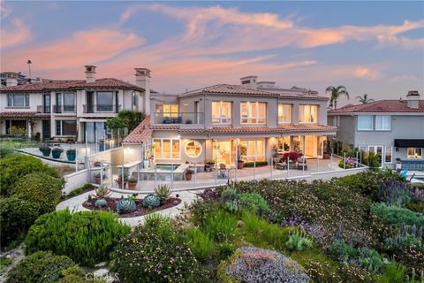
{"type": "Polygon", "coordinates": [[[42,160],[24,155],[11,155],[0,159],[0,189],[3,195],[25,175],[32,172],[44,172],[57,177],[57,170],[43,164],[42,160]]]}

